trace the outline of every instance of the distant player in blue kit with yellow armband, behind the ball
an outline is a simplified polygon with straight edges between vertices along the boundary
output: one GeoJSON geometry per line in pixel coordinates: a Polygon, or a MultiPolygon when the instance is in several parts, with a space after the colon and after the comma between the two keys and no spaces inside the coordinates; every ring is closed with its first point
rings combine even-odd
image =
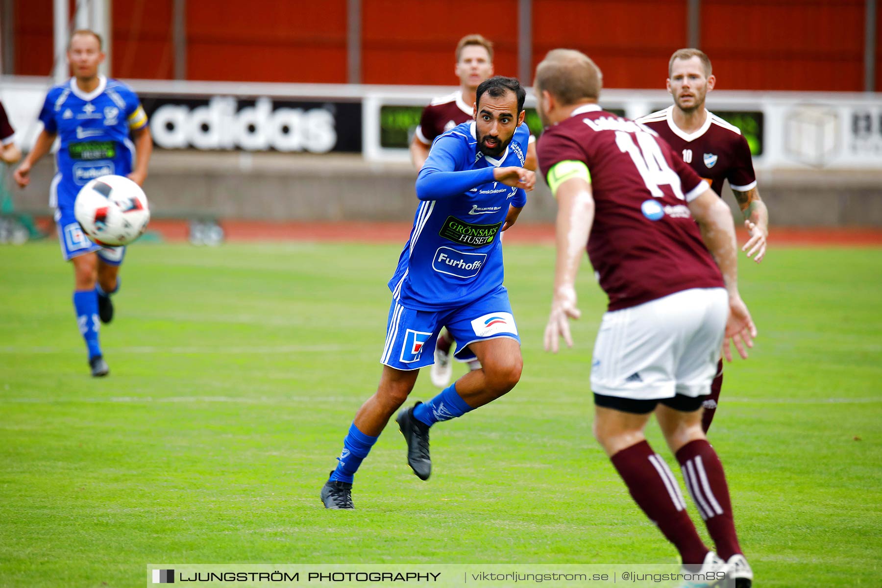
{"type": "Polygon", "coordinates": [[[15,181],[24,188],[30,182],[31,167],[49,153],[56,137],[61,138],[49,205],[56,209],[62,255],[73,263],[73,307],[79,332],[86,339],[92,375],[107,376],[98,328],[99,321],[109,323],[113,318],[110,294],[119,289],[125,248],[101,248],[89,241],[74,217],[73,204],[80,188],[101,175],[127,175],[143,185],[153,140],[138,96],[129,86],[98,74],[104,53],[97,33],[72,33],[67,58],[73,78],[49,90],[40,112],[43,130],[15,170],[15,181]]]}

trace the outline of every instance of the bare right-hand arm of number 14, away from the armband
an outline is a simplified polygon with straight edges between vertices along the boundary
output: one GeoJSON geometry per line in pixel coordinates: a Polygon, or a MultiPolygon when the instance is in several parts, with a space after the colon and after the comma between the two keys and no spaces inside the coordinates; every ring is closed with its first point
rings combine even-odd
{"type": "Polygon", "coordinates": [[[689,203],[692,217],[698,221],[701,237],[707,249],[720,267],[723,282],[729,292],[729,319],[726,322],[726,336],[723,339],[722,353],[726,361],[732,361],[729,341],[735,344],[738,354],[747,359],[747,348],[753,346],[757,327],[753,324],[751,313],[738,293],[738,259],[735,242],[735,227],[732,225],[732,212],[711,190],[705,190],[689,203]]]}

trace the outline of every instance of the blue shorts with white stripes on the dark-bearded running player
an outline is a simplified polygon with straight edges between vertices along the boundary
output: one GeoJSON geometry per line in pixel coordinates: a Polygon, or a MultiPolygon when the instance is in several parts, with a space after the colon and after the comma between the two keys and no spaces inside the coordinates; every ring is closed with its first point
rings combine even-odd
{"type": "Polygon", "coordinates": [[[380,363],[395,369],[419,369],[435,363],[435,344],[442,327],[456,340],[459,361],[477,359],[468,346],[475,341],[507,338],[520,343],[505,286],[459,309],[414,310],[392,300],[380,363]]]}

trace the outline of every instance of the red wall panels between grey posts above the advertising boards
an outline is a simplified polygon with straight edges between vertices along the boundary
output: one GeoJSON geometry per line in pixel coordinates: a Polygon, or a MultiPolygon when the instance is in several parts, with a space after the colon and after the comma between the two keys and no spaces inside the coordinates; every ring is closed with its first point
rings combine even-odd
{"type": "MultiPolygon", "coordinates": [[[[49,75],[52,0],[14,0],[15,72],[49,75]]],[[[113,0],[112,73],[172,78],[173,0],[113,0]]],[[[687,0],[533,0],[533,62],[578,48],[604,86],[662,87],[686,44],[687,0]]],[[[347,0],[188,0],[190,79],[343,83],[347,0]]],[[[71,2],[71,14],[73,3],[71,2]]],[[[701,48],[719,89],[863,90],[864,0],[703,0],[701,48]]],[[[518,2],[362,0],[362,80],[454,85],[453,49],[467,33],[496,46],[496,71],[518,73],[518,2]],[[491,10],[492,9],[492,10],[491,10]]],[[[882,10],[876,89],[882,91],[882,10]]]]}

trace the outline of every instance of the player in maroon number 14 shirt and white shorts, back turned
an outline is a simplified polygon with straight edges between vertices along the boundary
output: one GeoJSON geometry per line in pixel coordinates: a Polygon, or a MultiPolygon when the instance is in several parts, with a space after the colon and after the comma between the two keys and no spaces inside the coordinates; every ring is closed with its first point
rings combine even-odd
{"type": "Polygon", "coordinates": [[[738,294],[729,207],[646,126],[597,105],[601,72],[556,49],[535,75],[546,130],[537,153],[557,197],[557,264],[545,348],[572,346],[575,279],[586,247],[609,295],[591,367],[594,435],[632,497],[677,548],[683,586],[748,588],[720,459],[701,428],[729,339],[746,358],[756,328],[738,294]],[[725,344],[724,344],[725,341],[725,344]],[[644,435],[652,414],[684,473],[716,553],[699,537],[679,485],[644,435]],[[731,584],[725,584],[731,585],[731,584]]]}

